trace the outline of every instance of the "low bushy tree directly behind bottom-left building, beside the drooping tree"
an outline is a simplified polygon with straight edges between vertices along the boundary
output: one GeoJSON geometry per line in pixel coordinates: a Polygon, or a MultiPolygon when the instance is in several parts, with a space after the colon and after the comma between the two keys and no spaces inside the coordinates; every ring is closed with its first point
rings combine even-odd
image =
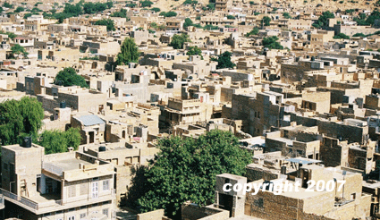
{"type": "Polygon", "coordinates": [[[77,150],[80,146],[80,130],[44,131],[35,142],[45,148],[46,155],[67,152],[69,147],[77,150]]]}

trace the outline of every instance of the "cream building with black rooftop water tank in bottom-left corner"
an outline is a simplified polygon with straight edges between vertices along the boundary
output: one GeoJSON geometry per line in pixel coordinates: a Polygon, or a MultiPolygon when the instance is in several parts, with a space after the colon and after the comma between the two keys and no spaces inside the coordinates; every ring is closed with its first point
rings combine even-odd
{"type": "Polygon", "coordinates": [[[79,152],[44,152],[31,140],[2,147],[5,218],[115,218],[114,165],[79,152]]]}

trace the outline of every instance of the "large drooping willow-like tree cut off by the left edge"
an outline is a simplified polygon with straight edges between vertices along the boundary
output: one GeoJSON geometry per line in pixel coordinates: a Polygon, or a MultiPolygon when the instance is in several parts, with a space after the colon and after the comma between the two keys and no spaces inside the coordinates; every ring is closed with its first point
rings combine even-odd
{"type": "Polygon", "coordinates": [[[44,109],[35,97],[0,103],[0,141],[2,145],[20,143],[26,135],[36,136],[42,126],[44,109]]]}

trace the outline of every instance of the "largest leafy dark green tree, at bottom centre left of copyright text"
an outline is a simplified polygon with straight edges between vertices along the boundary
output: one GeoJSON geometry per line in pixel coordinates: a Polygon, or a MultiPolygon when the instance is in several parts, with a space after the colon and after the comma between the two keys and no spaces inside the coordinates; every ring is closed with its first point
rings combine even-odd
{"type": "Polygon", "coordinates": [[[201,206],[213,203],[217,174],[243,175],[251,162],[229,131],[210,131],[197,140],[172,137],[159,140],[158,146],[161,152],[145,173],[148,191],[138,205],[143,212],[165,208],[166,215],[176,218],[187,200],[201,206]]]}

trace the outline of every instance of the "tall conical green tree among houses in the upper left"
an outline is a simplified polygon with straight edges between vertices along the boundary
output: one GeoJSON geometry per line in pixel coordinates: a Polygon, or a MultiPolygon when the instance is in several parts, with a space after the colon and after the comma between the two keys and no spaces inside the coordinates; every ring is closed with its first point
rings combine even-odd
{"type": "Polygon", "coordinates": [[[134,38],[125,38],[120,49],[121,51],[116,58],[118,65],[139,61],[139,47],[137,47],[134,38]]]}

